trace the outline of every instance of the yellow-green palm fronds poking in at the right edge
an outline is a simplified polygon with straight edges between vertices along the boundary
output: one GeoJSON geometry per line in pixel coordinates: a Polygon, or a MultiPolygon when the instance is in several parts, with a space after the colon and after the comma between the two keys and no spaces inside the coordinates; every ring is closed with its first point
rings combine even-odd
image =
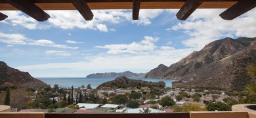
{"type": "MultiPolygon", "coordinates": [[[[249,64],[246,71],[251,77],[256,77],[256,65],[255,64],[249,64]]],[[[249,83],[246,88],[251,93],[256,94],[256,81],[249,83]]]]}

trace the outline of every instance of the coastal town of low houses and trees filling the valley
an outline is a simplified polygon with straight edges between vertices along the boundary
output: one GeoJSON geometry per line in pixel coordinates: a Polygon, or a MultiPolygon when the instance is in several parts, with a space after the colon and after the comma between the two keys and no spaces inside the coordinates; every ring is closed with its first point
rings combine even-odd
{"type": "MultiPolygon", "coordinates": [[[[126,77],[117,77],[134,81],[126,77]]],[[[117,80],[116,79],[116,80],[117,80]]],[[[240,102],[255,103],[248,92],[226,92],[201,88],[173,88],[137,83],[127,87],[97,87],[88,84],[81,87],[27,88],[26,96],[12,94],[18,103],[12,103],[12,111],[56,113],[171,113],[181,111],[230,111],[240,102]],[[30,94],[28,96],[28,94],[30,94]],[[246,96],[246,97],[245,97],[246,96]],[[22,98],[23,97],[23,98],[22,98]],[[249,101],[248,101],[249,100],[249,101]]],[[[156,85],[156,84],[155,84],[156,85]]],[[[9,88],[8,88],[9,90],[9,88]]],[[[8,91],[7,90],[7,91],[8,91]]],[[[13,91],[13,90],[12,90],[13,91]]],[[[15,90],[14,90],[15,91],[15,90]]],[[[13,93],[13,92],[12,92],[13,93]]],[[[3,96],[3,92],[0,93],[3,96]]],[[[3,97],[1,97],[3,98],[3,97]]],[[[13,98],[12,98],[13,100],[13,98]]]]}

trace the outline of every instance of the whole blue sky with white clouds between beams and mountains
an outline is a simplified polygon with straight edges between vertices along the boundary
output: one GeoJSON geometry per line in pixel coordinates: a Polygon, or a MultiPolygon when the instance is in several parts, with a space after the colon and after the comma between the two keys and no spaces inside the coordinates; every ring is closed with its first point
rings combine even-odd
{"type": "Polygon", "coordinates": [[[178,10],[93,10],[85,21],[76,10],[46,10],[37,22],[20,11],[0,11],[0,60],[33,77],[85,77],[97,72],[145,73],[170,66],[211,41],[255,37],[256,9],[226,21],[224,9],[198,9],[186,21],[178,10]]]}

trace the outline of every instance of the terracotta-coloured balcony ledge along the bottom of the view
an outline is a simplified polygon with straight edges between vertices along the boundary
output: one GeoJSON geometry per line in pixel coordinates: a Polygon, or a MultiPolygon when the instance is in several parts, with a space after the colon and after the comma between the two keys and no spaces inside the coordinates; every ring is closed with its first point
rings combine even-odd
{"type": "Polygon", "coordinates": [[[41,113],[7,112],[8,107],[0,107],[1,118],[256,118],[256,111],[247,105],[232,106],[232,111],[192,111],[186,113],[41,113]]]}

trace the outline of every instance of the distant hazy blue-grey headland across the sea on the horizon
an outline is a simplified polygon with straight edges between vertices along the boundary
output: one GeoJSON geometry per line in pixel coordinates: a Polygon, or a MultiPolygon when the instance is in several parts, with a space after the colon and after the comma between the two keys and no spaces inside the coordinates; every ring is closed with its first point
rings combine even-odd
{"type": "Polygon", "coordinates": [[[87,75],[87,78],[104,78],[104,77],[141,77],[144,78],[146,73],[133,73],[131,71],[125,71],[123,73],[93,73],[90,75],[87,75]]]}

